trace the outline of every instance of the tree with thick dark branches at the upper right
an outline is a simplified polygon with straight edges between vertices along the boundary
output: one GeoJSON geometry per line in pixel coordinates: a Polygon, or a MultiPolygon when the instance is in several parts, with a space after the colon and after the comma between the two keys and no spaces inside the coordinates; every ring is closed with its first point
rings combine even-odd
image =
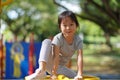
{"type": "MultiPolygon", "coordinates": [[[[57,0],[53,1],[56,5],[68,10],[57,0]]],[[[106,43],[111,46],[110,36],[120,34],[120,0],[79,0],[79,2],[82,12],[75,14],[99,25],[105,33],[106,43]]]]}

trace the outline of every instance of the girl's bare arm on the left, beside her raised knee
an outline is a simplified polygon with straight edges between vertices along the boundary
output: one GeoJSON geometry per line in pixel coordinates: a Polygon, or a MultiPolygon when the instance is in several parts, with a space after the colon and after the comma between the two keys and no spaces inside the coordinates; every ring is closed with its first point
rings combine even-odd
{"type": "Polygon", "coordinates": [[[57,76],[57,69],[59,64],[59,47],[56,45],[53,45],[53,54],[54,54],[54,60],[53,60],[52,75],[57,76]]]}

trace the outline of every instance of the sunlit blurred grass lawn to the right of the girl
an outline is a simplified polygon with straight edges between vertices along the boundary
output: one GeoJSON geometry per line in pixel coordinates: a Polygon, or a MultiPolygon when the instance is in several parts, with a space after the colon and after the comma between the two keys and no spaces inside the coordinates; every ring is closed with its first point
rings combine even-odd
{"type": "MultiPolygon", "coordinates": [[[[106,45],[85,45],[83,53],[84,73],[120,74],[120,48],[110,50],[106,45]]],[[[72,69],[76,70],[76,55],[72,69]]]]}

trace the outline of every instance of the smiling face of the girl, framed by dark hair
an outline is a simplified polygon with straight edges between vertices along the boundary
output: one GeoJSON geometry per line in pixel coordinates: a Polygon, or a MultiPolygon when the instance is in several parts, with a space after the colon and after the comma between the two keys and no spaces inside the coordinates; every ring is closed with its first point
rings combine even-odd
{"type": "Polygon", "coordinates": [[[76,32],[77,26],[70,17],[65,17],[61,21],[60,29],[64,37],[73,37],[76,32]]]}

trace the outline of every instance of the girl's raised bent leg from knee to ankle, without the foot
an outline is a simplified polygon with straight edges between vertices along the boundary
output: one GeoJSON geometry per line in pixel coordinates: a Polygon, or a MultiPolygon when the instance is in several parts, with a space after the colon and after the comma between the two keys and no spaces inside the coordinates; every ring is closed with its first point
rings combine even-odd
{"type": "Polygon", "coordinates": [[[52,43],[50,39],[42,42],[41,52],[39,56],[39,68],[51,72],[53,66],[52,43]]]}

